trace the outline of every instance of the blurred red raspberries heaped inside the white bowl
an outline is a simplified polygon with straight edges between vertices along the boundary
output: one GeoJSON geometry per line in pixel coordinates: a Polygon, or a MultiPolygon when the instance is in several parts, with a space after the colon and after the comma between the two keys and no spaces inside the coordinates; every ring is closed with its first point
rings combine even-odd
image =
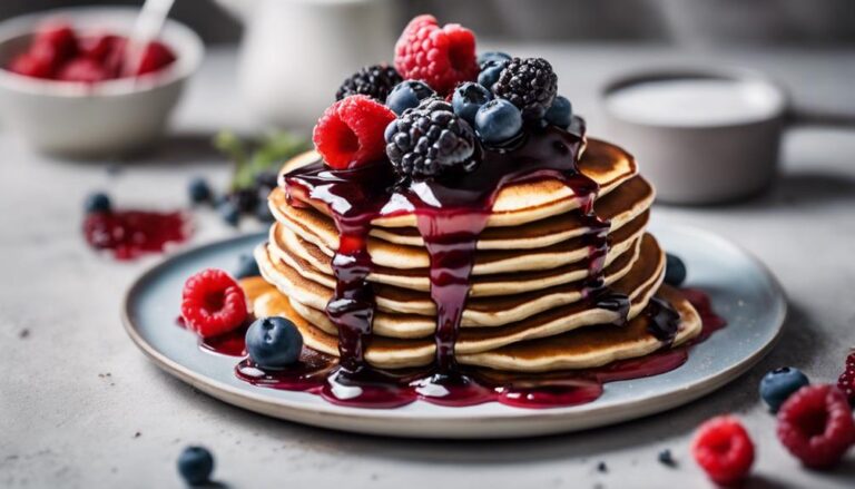
{"type": "Polygon", "coordinates": [[[95,84],[158,71],[176,60],[169,47],[153,41],[142,48],[139,65],[129,67],[126,45],[122,36],[80,36],[67,23],[51,22],[36,30],[27,51],[7,68],[32,78],[95,84]]]}

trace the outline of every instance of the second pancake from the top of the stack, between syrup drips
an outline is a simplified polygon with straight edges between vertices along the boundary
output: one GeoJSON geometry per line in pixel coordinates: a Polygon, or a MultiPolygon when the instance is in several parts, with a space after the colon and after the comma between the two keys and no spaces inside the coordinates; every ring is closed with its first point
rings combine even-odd
{"type": "MultiPolygon", "coordinates": [[[[611,223],[610,232],[621,228],[640,214],[647,212],[655,193],[650,184],[636,176],[621,184],[619,189],[598,198],[594,211],[598,216],[611,223]]],[[[313,207],[294,207],[288,204],[285,190],[274,189],[269,206],[276,221],[303,239],[325,250],[338,248],[338,231],[333,219],[313,207]]],[[[550,246],[590,232],[576,212],[560,214],[513,227],[488,227],[478,239],[478,250],[531,250],[550,246]]],[[[394,256],[397,247],[424,246],[421,234],[414,227],[373,227],[368,239],[368,253],[383,263],[385,256],[394,256]],[[384,243],[385,242],[385,243],[384,243]],[[385,246],[383,246],[385,244],[385,246]]],[[[391,265],[390,265],[391,266],[391,265]]]]}

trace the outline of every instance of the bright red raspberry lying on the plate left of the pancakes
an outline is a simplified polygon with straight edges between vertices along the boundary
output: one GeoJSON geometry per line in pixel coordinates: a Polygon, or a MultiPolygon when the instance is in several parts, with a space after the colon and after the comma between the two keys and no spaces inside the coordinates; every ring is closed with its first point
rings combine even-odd
{"type": "Polygon", "coordinates": [[[222,270],[204,270],[184,284],[181,317],[188,329],[203,338],[240,326],[247,314],[244,291],[222,270]]]}

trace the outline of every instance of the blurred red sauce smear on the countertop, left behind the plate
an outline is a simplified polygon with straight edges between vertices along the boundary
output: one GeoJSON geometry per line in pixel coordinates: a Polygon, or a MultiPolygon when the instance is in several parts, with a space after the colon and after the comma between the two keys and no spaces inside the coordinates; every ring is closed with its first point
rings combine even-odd
{"type": "Polygon", "coordinates": [[[109,250],[124,261],[181,243],[190,236],[190,227],[183,212],[109,211],[87,215],[83,236],[91,247],[109,250]]]}

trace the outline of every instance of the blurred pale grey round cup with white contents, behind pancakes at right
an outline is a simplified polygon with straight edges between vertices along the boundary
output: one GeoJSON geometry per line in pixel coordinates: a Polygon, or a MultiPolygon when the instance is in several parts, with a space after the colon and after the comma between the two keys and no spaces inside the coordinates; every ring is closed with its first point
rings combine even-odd
{"type": "Polygon", "coordinates": [[[660,201],[716,204],[775,179],[788,97],[748,70],[662,69],[601,91],[609,136],[636,156],[660,201]]]}

